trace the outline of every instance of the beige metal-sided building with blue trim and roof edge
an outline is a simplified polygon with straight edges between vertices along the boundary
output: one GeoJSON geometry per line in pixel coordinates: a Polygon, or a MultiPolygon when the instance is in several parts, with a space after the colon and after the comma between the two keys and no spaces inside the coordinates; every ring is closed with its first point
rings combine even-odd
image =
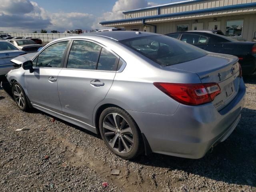
{"type": "Polygon", "coordinates": [[[123,14],[124,19],[100,24],[159,34],[217,29],[226,36],[247,41],[252,41],[256,32],[256,0],[187,0],[123,14]]]}

